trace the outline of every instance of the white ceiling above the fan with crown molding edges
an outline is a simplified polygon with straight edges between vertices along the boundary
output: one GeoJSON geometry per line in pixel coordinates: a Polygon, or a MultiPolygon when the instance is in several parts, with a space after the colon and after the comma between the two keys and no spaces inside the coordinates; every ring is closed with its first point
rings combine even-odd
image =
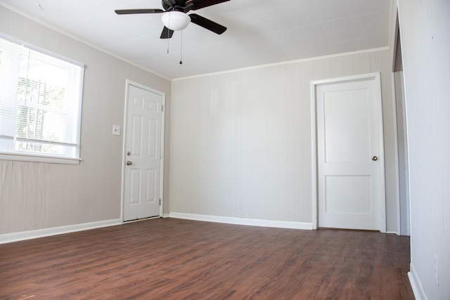
{"type": "Polygon", "coordinates": [[[218,35],[190,24],[160,39],[160,0],[0,0],[167,79],[389,46],[392,0],[231,0],[197,13],[228,28],[218,35]],[[182,35],[182,60],[180,49],[182,35]],[[169,53],[167,53],[167,48],[169,53]]]}

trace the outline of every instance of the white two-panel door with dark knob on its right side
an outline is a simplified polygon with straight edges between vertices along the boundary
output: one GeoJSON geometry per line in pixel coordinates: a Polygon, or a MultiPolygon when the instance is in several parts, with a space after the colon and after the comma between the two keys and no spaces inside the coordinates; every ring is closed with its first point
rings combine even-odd
{"type": "Polygon", "coordinates": [[[319,226],[381,230],[385,185],[379,81],[319,84],[316,106],[319,226]]]}

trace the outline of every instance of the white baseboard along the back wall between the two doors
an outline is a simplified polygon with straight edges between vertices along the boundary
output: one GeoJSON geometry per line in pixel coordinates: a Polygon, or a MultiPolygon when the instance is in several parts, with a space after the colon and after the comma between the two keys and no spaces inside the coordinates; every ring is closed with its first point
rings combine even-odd
{"type": "Polygon", "coordinates": [[[227,224],[247,225],[247,226],[304,229],[304,230],[313,229],[312,223],[294,222],[294,221],[244,219],[244,218],[233,218],[231,216],[209,216],[205,214],[185,214],[181,212],[170,212],[169,216],[170,218],[174,219],[187,219],[195,221],[207,221],[207,222],[227,223],[227,224]]]}

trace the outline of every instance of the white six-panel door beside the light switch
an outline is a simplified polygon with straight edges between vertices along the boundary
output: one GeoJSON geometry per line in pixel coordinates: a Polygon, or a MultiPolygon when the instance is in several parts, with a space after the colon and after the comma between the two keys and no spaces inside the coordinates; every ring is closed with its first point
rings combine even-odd
{"type": "Polygon", "coordinates": [[[128,86],[124,221],[160,216],[164,94],[128,86]]]}

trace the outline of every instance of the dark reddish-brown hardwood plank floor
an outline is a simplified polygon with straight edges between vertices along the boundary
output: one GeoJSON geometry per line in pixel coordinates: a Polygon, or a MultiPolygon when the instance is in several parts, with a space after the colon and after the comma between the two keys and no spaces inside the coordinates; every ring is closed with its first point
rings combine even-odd
{"type": "Polygon", "coordinates": [[[409,237],[153,219],[0,244],[0,299],[414,299],[409,237]]]}

